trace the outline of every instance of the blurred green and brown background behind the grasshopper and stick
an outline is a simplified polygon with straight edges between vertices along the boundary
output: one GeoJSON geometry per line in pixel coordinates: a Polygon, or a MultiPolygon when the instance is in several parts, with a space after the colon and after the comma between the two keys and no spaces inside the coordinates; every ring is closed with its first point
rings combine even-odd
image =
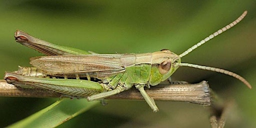
{"type": "MultiPolygon", "coordinates": [[[[227,32],[182,58],[182,62],[221,67],[244,76],[252,89],[230,76],[180,67],[174,80],[207,80],[235,104],[226,127],[256,127],[255,0],[0,0],[0,77],[42,54],[14,41],[21,29],[40,39],[97,53],[153,52],[179,54],[215,30],[247,16],[227,32]]],[[[0,97],[0,127],[16,122],[57,98],[0,97]]],[[[153,113],[144,101],[109,100],[59,127],[209,127],[208,107],[156,101],[153,113]]],[[[70,104],[70,107],[71,104],[70,104]]]]}

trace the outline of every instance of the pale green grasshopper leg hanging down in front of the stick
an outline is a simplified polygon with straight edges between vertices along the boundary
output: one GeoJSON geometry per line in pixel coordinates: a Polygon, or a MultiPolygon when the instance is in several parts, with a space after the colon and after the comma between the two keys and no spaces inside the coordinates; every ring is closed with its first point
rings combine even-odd
{"type": "Polygon", "coordinates": [[[153,112],[157,112],[159,109],[156,106],[154,99],[149,97],[147,95],[147,93],[144,90],[144,84],[138,84],[135,85],[135,87],[139,90],[139,92],[141,93],[141,95],[143,96],[143,98],[145,99],[146,103],[151,107],[151,109],[153,110],[153,112]]]}

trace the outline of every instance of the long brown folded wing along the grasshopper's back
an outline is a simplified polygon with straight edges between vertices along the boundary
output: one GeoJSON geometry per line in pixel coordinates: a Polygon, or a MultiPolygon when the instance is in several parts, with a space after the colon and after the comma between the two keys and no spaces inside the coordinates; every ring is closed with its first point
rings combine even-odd
{"type": "Polygon", "coordinates": [[[30,58],[30,64],[49,75],[104,77],[125,71],[122,54],[56,55],[30,58]]]}

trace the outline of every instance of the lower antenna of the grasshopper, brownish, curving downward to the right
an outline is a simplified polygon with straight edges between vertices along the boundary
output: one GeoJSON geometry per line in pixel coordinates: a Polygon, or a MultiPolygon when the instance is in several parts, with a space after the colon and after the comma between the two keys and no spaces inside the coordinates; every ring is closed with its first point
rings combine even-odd
{"type": "Polygon", "coordinates": [[[210,66],[202,66],[202,65],[191,64],[191,63],[179,63],[179,66],[189,66],[189,67],[194,67],[194,68],[198,68],[198,69],[210,70],[210,71],[214,71],[214,72],[219,72],[219,73],[227,74],[227,75],[230,75],[230,76],[233,76],[233,77],[239,79],[245,85],[247,85],[249,88],[251,88],[250,83],[246,79],[244,79],[242,76],[240,76],[240,75],[238,75],[238,74],[236,74],[234,72],[225,70],[225,69],[216,68],[216,67],[210,67],[210,66]]]}

